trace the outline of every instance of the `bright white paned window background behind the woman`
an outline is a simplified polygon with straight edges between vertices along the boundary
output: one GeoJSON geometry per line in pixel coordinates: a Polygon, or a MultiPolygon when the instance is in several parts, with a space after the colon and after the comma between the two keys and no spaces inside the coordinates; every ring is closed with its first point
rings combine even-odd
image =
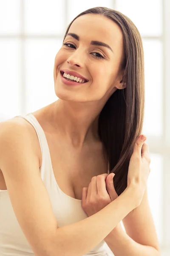
{"type": "MultiPolygon", "coordinates": [[[[80,12],[105,6],[127,15],[144,46],[143,134],[150,148],[150,208],[163,256],[170,255],[170,1],[0,0],[0,121],[58,98],[53,67],[66,27],[80,12]]],[[[113,255],[113,254],[111,254],[113,255]]]]}

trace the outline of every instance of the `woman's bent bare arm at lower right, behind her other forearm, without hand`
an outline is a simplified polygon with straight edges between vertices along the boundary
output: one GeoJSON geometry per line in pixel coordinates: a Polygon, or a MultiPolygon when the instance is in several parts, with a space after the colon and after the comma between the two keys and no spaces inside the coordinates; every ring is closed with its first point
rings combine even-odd
{"type": "Polygon", "coordinates": [[[139,207],[123,219],[126,232],[119,224],[105,242],[115,256],[160,256],[159,242],[150,211],[147,189],[139,207]]]}

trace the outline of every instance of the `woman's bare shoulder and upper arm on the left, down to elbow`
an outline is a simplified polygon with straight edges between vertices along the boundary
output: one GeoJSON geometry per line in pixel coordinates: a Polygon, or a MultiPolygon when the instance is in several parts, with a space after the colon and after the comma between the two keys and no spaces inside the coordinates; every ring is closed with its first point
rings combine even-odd
{"type": "Polygon", "coordinates": [[[0,168],[14,214],[34,254],[54,255],[58,225],[33,138],[26,122],[17,117],[1,122],[0,168]]]}

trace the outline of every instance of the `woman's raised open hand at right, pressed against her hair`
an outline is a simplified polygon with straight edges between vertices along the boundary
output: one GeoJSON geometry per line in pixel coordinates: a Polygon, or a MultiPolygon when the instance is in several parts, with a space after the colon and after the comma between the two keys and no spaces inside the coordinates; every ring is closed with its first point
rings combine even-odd
{"type": "Polygon", "coordinates": [[[150,154],[149,148],[139,136],[133,147],[133,154],[130,158],[127,187],[133,187],[137,196],[137,205],[140,205],[144,191],[147,186],[147,179],[150,174],[150,154]]]}

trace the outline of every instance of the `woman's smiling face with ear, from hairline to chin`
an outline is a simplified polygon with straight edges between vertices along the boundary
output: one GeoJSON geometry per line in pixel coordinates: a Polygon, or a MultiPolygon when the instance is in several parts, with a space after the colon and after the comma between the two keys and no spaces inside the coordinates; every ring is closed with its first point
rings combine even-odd
{"type": "Polygon", "coordinates": [[[54,62],[54,85],[59,99],[75,102],[107,101],[117,89],[122,89],[123,73],[119,72],[123,58],[123,35],[120,27],[102,15],[86,14],[71,24],[64,44],[54,62]],[[79,40],[77,40],[79,38],[79,40]],[[99,41],[107,44],[91,44],[99,41]],[[61,71],[67,69],[79,73],[88,82],[66,85],[61,71]]]}

